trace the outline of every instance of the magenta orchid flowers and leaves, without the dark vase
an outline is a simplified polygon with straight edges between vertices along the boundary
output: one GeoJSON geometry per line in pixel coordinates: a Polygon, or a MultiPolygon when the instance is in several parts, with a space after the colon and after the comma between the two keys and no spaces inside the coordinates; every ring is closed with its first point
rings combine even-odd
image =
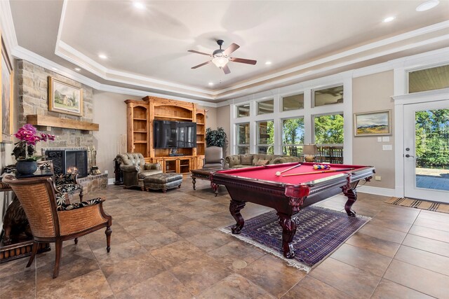
{"type": "Polygon", "coordinates": [[[15,160],[36,161],[42,158],[34,155],[37,142],[55,140],[55,135],[38,133],[33,125],[24,125],[14,136],[20,141],[15,144],[15,148],[11,155],[15,156],[15,160]]]}

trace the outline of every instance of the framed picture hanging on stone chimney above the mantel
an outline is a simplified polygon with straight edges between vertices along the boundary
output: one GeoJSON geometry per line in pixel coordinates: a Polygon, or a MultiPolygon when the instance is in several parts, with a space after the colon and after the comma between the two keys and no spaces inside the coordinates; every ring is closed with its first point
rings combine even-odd
{"type": "Polygon", "coordinates": [[[48,76],[48,111],[83,116],[83,90],[48,76]]]}

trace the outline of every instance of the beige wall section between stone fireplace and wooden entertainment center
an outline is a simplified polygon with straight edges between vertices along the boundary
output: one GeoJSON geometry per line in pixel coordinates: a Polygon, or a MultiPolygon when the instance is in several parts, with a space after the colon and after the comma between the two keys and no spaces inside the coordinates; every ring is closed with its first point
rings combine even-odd
{"type": "Polygon", "coordinates": [[[114,178],[114,158],[119,153],[120,135],[126,135],[126,99],[142,99],[113,92],[93,91],[93,122],[100,125],[100,131],[93,132],[97,149],[97,166],[102,173],[108,171],[108,178],[114,178]]]}

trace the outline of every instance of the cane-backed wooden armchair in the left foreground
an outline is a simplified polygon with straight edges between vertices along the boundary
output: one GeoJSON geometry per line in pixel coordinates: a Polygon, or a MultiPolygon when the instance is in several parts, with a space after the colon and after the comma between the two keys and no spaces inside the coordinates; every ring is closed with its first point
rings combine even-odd
{"type": "Polygon", "coordinates": [[[29,267],[36,256],[39,243],[55,243],[55,267],[53,278],[58,277],[62,242],[106,228],[106,250],[111,249],[112,217],[103,210],[102,197],[79,202],[76,204],[57,204],[55,185],[51,176],[31,179],[16,179],[15,176],[5,176],[7,183],[17,195],[23,210],[27,215],[29,227],[33,234],[32,255],[29,267]]]}

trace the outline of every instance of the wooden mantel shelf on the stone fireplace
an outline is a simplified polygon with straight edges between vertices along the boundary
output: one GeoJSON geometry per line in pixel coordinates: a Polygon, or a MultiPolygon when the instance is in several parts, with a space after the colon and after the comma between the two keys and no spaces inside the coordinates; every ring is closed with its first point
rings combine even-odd
{"type": "Polygon", "coordinates": [[[27,123],[31,125],[41,125],[45,127],[63,127],[65,129],[98,131],[100,125],[98,123],[88,123],[81,120],[72,120],[69,118],[55,118],[53,116],[39,116],[30,114],[27,116],[27,123]]]}

